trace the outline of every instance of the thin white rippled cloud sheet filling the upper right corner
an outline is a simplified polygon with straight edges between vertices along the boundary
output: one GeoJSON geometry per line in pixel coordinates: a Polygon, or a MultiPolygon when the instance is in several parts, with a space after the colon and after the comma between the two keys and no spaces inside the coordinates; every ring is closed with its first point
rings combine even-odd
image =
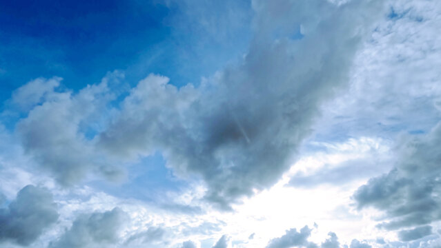
{"type": "Polygon", "coordinates": [[[441,8],[435,1],[384,3],[389,17],[357,52],[351,87],[322,106],[314,125],[321,139],[395,139],[400,132],[429,132],[439,121],[441,8]]]}

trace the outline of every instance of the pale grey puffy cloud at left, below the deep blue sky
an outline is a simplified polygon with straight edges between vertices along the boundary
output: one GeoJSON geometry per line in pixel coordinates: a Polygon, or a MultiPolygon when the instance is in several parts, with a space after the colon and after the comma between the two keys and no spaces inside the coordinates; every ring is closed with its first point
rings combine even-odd
{"type": "MultiPolygon", "coordinates": [[[[99,132],[109,118],[104,110],[115,94],[108,85],[118,78],[117,72],[109,74],[99,85],[89,85],[77,94],[50,92],[53,90],[50,87],[45,90],[48,95],[45,101],[35,105],[28,116],[17,123],[16,130],[25,152],[61,185],[78,183],[90,172],[108,178],[119,176],[113,163],[101,156],[87,135],[99,132]]],[[[56,83],[59,80],[52,79],[56,83]]],[[[17,97],[29,91],[23,89],[33,89],[35,82],[40,81],[31,81],[19,88],[17,97]]]]}

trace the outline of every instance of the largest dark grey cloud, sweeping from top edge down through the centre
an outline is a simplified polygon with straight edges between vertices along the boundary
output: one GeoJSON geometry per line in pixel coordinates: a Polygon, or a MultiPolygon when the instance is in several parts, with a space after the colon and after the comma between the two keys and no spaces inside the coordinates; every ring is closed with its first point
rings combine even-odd
{"type": "Polygon", "coordinates": [[[255,36],[242,64],[198,88],[178,90],[148,76],[100,134],[99,146],[126,157],[160,150],[176,174],[200,176],[205,198],[230,209],[291,165],[320,104],[345,85],[380,6],[255,1],[255,36]]]}

